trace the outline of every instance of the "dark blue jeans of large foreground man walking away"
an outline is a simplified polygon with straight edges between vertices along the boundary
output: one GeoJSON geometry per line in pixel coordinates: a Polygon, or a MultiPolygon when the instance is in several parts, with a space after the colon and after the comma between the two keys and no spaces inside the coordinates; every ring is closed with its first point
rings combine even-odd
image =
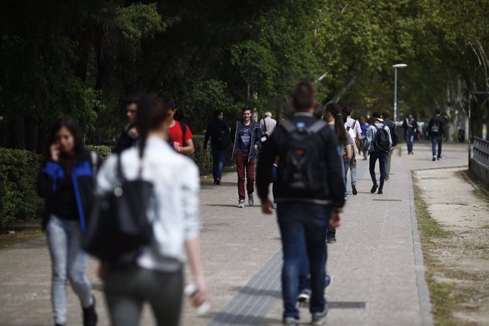
{"type": "Polygon", "coordinates": [[[277,208],[283,246],[283,317],[299,317],[299,274],[309,269],[310,312],[325,310],[326,235],[331,210],[312,203],[280,203],[277,208]],[[305,259],[307,257],[307,259],[305,259]],[[309,268],[307,266],[309,262],[309,268]]]}

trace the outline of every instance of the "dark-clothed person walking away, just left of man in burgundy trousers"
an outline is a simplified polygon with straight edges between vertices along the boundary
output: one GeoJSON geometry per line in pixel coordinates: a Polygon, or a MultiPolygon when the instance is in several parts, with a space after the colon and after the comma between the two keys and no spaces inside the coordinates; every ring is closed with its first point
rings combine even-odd
{"type": "Polygon", "coordinates": [[[229,145],[229,126],[223,118],[223,111],[215,110],[214,120],[207,125],[206,137],[204,137],[204,150],[207,149],[207,142],[210,137],[214,184],[220,184],[220,179],[223,176],[226,150],[229,145]]]}

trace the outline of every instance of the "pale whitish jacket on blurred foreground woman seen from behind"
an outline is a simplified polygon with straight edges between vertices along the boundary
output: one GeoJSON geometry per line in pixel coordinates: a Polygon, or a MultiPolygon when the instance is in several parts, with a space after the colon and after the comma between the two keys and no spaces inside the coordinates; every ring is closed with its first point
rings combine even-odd
{"type": "MultiPolygon", "coordinates": [[[[125,179],[136,179],[141,162],[139,150],[130,148],[121,155],[125,179]]],[[[97,193],[107,193],[119,186],[116,168],[117,157],[111,155],[97,176],[97,193]]],[[[185,261],[184,243],[198,237],[200,232],[198,168],[167,142],[150,137],[142,158],[142,179],[151,181],[154,186],[155,203],[147,212],[148,218],[153,220],[154,240],[143,249],[137,263],[147,269],[167,271],[169,261],[185,261]]]]}

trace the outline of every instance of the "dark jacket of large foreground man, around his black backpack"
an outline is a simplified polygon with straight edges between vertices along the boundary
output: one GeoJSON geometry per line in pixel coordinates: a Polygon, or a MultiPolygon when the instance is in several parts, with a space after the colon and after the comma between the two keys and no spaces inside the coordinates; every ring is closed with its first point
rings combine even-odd
{"type": "MultiPolygon", "coordinates": [[[[303,122],[306,127],[313,125],[317,121],[312,114],[296,113],[291,118],[293,124],[303,122]]],[[[324,159],[325,169],[324,186],[322,191],[318,192],[313,198],[294,198],[293,201],[308,203],[326,203],[332,208],[342,208],[344,206],[344,184],[342,172],[342,150],[339,147],[337,137],[332,128],[322,128],[317,134],[320,142],[317,142],[317,150],[321,151],[320,157],[324,159]]],[[[263,143],[262,152],[257,166],[257,189],[259,198],[264,201],[268,198],[269,183],[271,181],[271,167],[274,164],[276,155],[286,157],[288,144],[286,143],[286,130],[283,125],[277,126],[269,140],[263,143]]],[[[277,174],[277,193],[276,201],[281,201],[281,171],[283,169],[283,160],[279,160],[279,173],[277,174]]],[[[292,201],[290,198],[283,198],[283,201],[292,201]]]]}

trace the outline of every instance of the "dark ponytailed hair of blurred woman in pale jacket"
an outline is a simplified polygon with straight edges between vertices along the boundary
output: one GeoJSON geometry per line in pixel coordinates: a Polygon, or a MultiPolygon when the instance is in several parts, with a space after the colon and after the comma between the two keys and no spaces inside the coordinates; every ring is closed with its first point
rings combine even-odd
{"type": "MultiPolygon", "coordinates": [[[[169,108],[168,108],[169,109],[169,108]]],[[[167,106],[159,96],[142,95],[137,101],[136,128],[140,135],[139,156],[145,152],[147,135],[157,130],[167,117],[167,106]]]]}

